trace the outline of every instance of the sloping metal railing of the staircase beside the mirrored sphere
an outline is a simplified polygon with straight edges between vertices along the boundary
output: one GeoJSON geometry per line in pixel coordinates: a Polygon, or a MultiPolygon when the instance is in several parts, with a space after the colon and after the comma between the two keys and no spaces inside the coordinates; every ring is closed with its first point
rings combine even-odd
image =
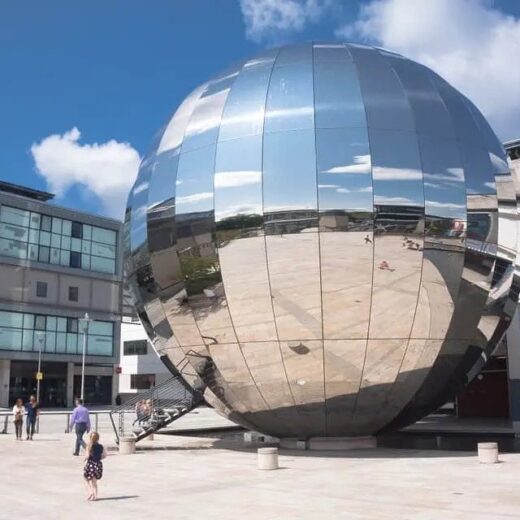
{"type": "Polygon", "coordinates": [[[127,434],[144,439],[182,417],[203,401],[202,393],[191,388],[180,375],[127,400],[110,412],[116,443],[127,434]],[[130,430],[130,431],[129,431],[130,430]]]}

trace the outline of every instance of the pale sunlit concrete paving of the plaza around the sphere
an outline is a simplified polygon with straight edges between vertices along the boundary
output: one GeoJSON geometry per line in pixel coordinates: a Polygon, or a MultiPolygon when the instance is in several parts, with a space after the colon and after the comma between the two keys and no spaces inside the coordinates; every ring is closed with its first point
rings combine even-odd
{"type": "Polygon", "coordinates": [[[101,440],[110,452],[90,503],[72,435],[1,435],[0,519],[520,518],[520,454],[482,465],[469,452],[281,451],[281,469],[259,471],[236,432],[156,435],[127,456],[101,440]]]}

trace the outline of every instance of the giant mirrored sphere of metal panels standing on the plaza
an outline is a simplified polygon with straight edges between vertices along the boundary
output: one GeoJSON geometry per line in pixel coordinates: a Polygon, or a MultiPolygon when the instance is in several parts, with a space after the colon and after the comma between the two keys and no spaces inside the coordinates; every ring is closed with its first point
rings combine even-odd
{"type": "Polygon", "coordinates": [[[232,420],[374,434],[442,404],[503,336],[516,215],[460,92],[386,50],[306,43],[181,103],[128,199],[126,270],[158,354],[232,420]]]}

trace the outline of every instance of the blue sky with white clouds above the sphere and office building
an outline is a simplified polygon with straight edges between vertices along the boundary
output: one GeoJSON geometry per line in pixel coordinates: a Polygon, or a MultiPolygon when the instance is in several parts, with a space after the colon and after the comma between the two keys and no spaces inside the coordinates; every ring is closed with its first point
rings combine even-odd
{"type": "Polygon", "coordinates": [[[514,0],[2,2],[0,177],[119,214],[139,156],[192,88],[259,48],[310,39],[423,61],[502,139],[520,137],[519,18],[514,0]]]}

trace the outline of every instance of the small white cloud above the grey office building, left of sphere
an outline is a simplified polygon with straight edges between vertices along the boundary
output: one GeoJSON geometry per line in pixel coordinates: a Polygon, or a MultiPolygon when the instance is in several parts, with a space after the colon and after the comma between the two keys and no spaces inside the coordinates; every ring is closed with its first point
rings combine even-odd
{"type": "Polygon", "coordinates": [[[33,143],[36,171],[58,196],[76,184],[94,193],[106,215],[122,219],[128,191],[137,176],[139,154],[128,143],[80,144],[74,127],[63,135],[53,134],[33,143]]]}

